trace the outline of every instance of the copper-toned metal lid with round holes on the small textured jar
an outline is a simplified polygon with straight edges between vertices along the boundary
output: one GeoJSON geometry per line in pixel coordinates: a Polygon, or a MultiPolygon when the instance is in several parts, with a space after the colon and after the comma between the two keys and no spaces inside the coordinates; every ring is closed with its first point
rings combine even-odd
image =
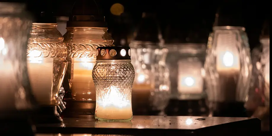
{"type": "Polygon", "coordinates": [[[130,60],[130,48],[126,46],[97,47],[96,60],[130,60]]]}

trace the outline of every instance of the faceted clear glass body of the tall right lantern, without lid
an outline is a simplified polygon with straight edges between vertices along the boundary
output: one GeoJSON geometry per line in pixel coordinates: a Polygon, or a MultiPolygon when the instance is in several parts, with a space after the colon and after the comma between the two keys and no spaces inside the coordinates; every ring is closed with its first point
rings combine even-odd
{"type": "Polygon", "coordinates": [[[204,68],[209,108],[215,108],[215,103],[218,102],[244,103],[247,100],[252,72],[245,28],[213,27],[204,68]]]}

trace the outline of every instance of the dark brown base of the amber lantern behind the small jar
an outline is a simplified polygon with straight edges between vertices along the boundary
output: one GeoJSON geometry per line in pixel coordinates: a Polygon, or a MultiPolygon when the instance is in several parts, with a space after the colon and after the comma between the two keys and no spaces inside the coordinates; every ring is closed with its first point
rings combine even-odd
{"type": "Polygon", "coordinates": [[[63,118],[88,118],[95,115],[96,102],[66,102],[66,108],[60,114],[63,118]]]}

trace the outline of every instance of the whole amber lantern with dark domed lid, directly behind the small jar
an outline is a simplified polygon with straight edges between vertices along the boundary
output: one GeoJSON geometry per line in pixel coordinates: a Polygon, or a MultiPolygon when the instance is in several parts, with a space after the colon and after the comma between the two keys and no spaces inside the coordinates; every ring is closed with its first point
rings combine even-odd
{"type": "Polygon", "coordinates": [[[68,48],[68,69],[63,82],[65,117],[85,117],[95,114],[95,85],[92,69],[96,48],[113,46],[107,23],[96,1],[78,0],[74,3],[64,42],[68,48]],[[83,10],[84,9],[84,10],[83,10]]]}

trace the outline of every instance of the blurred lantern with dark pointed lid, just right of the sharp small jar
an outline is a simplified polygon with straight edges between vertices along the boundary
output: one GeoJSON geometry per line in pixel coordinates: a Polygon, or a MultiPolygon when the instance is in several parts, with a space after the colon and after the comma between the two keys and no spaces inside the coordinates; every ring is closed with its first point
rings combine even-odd
{"type": "Polygon", "coordinates": [[[132,111],[135,115],[156,115],[164,111],[169,100],[168,53],[155,15],[143,13],[142,22],[131,41],[131,62],[135,68],[132,87],[132,111]]]}

